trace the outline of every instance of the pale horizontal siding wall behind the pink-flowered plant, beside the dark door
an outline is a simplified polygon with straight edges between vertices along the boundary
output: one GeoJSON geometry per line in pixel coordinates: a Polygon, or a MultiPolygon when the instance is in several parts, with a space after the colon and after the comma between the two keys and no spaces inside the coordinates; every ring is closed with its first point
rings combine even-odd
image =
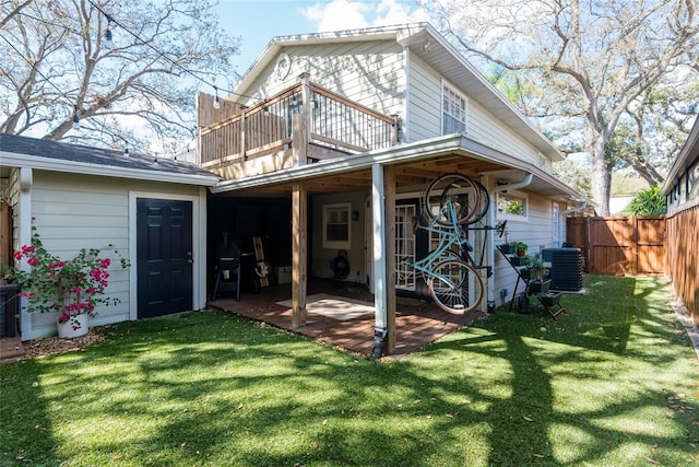
{"type": "MultiPolygon", "coordinates": [[[[130,191],[199,196],[199,187],[194,186],[34,171],[32,217],[44,246],[61,258],[72,258],[81,248],[99,248],[103,256],[114,260],[115,255],[108,247],[112,244],[129,258],[130,191]]],[[[120,303],[98,307],[91,325],[131,317],[130,271],[121,269],[118,261],[112,261],[109,271],[107,296],[119,299],[120,303]]],[[[56,334],[55,314],[29,316],[32,336],[28,338],[56,334]]],[[[27,336],[23,334],[23,338],[27,336]]]]}

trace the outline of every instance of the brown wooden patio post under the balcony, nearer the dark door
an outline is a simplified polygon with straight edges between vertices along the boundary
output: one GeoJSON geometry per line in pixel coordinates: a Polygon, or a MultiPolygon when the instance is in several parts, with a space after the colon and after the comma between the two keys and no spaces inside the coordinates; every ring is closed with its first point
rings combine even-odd
{"type": "Polygon", "coordinates": [[[306,325],[307,292],[307,191],[295,182],[292,191],[292,327],[306,325]]]}

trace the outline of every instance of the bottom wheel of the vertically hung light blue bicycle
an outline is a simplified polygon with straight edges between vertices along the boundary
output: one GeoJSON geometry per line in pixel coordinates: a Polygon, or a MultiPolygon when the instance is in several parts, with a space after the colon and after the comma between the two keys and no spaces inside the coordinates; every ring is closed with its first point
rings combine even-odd
{"type": "Polygon", "coordinates": [[[427,288],[437,306],[452,315],[476,310],[483,302],[485,289],[481,275],[460,259],[438,262],[427,280],[427,288]]]}

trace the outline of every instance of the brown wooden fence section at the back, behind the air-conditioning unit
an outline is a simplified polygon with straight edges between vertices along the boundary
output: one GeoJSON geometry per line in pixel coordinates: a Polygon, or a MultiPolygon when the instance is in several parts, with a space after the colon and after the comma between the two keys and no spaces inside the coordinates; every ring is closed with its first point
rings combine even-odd
{"type": "Polygon", "coordinates": [[[568,218],[567,242],[581,248],[587,271],[608,276],[665,270],[665,217],[568,218]]]}

